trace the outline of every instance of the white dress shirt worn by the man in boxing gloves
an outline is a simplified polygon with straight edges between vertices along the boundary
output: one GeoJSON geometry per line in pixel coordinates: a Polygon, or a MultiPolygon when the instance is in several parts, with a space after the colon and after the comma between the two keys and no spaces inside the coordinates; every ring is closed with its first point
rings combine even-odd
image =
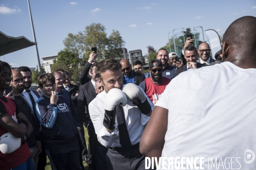
{"type": "MultiPolygon", "coordinates": [[[[144,92],[144,91],[143,91],[144,92]]],[[[117,121],[115,123],[115,130],[113,133],[109,133],[106,128],[103,126],[103,119],[105,115],[104,109],[104,101],[107,93],[102,91],[102,93],[98,94],[93,101],[89,104],[89,113],[90,118],[93,122],[93,126],[95,128],[95,132],[97,134],[98,141],[105,147],[121,147],[119,142],[119,131],[117,127],[117,121]]],[[[149,104],[151,105],[151,109],[154,109],[153,103],[148,99],[149,104]]],[[[140,138],[142,133],[145,130],[146,123],[148,122],[150,116],[145,116],[145,114],[141,113],[140,109],[133,105],[131,102],[127,101],[127,105],[123,107],[125,113],[125,121],[127,130],[130,136],[131,144],[137,144],[140,142],[140,138]]]]}

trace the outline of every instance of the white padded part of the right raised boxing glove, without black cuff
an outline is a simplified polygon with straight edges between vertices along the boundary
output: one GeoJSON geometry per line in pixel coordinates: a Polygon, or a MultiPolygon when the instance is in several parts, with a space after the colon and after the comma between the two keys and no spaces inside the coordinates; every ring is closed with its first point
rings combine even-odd
{"type": "Polygon", "coordinates": [[[142,103],[146,100],[143,90],[133,83],[128,83],[125,85],[122,91],[129,102],[133,102],[133,100],[136,98],[140,99],[142,103]]]}

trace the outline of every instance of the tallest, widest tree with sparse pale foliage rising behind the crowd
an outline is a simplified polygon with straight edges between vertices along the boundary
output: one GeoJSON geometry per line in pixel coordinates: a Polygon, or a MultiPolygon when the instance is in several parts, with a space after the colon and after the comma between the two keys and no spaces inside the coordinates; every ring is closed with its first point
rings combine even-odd
{"type": "Polygon", "coordinates": [[[92,23],[86,26],[84,31],[78,34],[68,34],[63,41],[66,50],[78,55],[80,65],[84,65],[89,59],[92,47],[97,47],[98,57],[96,61],[114,58],[121,59],[122,47],[125,42],[117,30],[113,30],[109,37],[106,28],[100,23],[92,23]]]}

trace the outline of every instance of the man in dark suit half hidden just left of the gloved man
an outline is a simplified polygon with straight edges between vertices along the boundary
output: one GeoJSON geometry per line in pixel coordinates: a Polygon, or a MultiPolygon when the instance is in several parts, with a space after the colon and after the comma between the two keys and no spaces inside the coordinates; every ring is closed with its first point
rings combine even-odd
{"type": "MultiPolygon", "coordinates": [[[[95,67],[97,63],[94,63],[90,67],[90,72],[92,79],[90,82],[87,82],[84,85],[81,85],[79,88],[78,102],[77,102],[77,112],[81,122],[87,127],[89,134],[89,144],[88,144],[88,158],[87,164],[90,166],[89,169],[92,170],[107,170],[107,164],[105,163],[105,156],[108,152],[108,148],[102,146],[97,139],[93,123],[90,119],[90,114],[88,112],[89,103],[96,97],[95,87],[96,78],[95,78],[95,67]],[[96,150],[98,153],[96,153],[96,150]],[[97,164],[96,164],[97,162],[97,164]]],[[[98,85],[99,86],[99,85],[98,85]]],[[[83,129],[83,128],[82,128],[83,129]]]]}

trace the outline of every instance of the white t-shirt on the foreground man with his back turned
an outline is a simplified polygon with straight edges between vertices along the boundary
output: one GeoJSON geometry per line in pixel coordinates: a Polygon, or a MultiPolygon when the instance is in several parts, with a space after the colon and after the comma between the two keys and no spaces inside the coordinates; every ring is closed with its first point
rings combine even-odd
{"type": "Polygon", "coordinates": [[[162,157],[204,157],[204,169],[256,170],[256,160],[247,164],[256,153],[256,69],[223,62],[182,72],[155,106],[169,110],[162,157]]]}

